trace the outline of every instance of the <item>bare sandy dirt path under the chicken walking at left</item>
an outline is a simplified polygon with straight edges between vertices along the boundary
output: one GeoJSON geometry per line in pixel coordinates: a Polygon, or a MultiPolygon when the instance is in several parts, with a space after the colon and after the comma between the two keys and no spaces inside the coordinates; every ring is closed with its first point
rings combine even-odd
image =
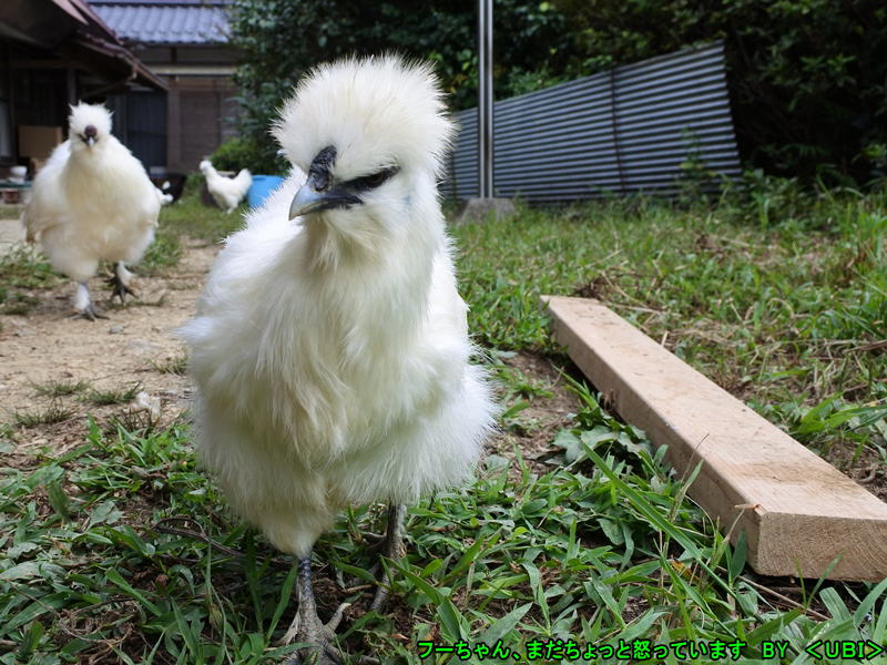
{"type": "Polygon", "coordinates": [[[4,456],[6,464],[28,464],[41,448],[62,454],[81,444],[88,412],[101,424],[139,409],[134,401],[96,406],[90,401],[95,398],[91,391],[125,392],[137,385],[149,405],[160,406],[160,424],[179,417],[187,407],[188,380],[176,374],[185,350],[173,331],[193,315],[217,250],[186,244],[179,265],[162,276],[141,277],[135,266],[137,298],[128,299],[124,307],[109,303],[109,287],[101,276],[94,277],[90,293],[106,319],[70,317],[71,280],[30,291],[38,305],[27,316],[0,316],[0,423],[13,426],[17,416],[50,409],[70,411],[59,422],[9,428],[16,449],[4,456]],[[84,383],[81,390],[57,398],[41,396],[35,388],[79,381],[84,383]]]}

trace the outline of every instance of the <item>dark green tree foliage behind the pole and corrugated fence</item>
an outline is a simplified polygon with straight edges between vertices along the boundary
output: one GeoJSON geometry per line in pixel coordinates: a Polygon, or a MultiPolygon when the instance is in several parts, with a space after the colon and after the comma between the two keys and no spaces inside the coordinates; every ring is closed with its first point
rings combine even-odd
{"type": "MultiPolygon", "coordinates": [[[[397,51],[431,60],[453,109],[477,96],[476,0],[238,0],[242,130],[272,164],[269,119],[313,64],[397,51]]],[[[496,0],[496,96],[723,39],[743,157],[807,180],[887,166],[883,0],[496,0]]],[[[259,160],[259,161],[262,161],[259,160]]]]}

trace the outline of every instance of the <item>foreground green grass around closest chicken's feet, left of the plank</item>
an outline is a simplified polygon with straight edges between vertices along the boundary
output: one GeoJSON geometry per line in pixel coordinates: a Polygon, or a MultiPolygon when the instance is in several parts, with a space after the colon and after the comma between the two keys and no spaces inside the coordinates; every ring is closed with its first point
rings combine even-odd
{"type": "MultiPolygon", "coordinates": [[[[469,487],[410,509],[390,613],[346,623],[348,663],[415,663],[420,642],[500,637],[521,654],[549,640],[565,648],[569,640],[738,640],[742,663],[761,662],[765,641],[788,643],[783,663],[806,662],[816,638],[884,642],[887,583],[809,581],[786,608],[747,576],[744,546],[727,544],[726,529],[685,498],[661,451],[581,395],[550,471],[532,472],[519,451],[492,457],[469,487]]],[[[284,655],[275,642],[294,611],[294,570],[227,511],[188,440],[184,424],[143,436],[91,423],[83,446],[61,458],[4,470],[0,663],[284,655]],[[154,526],[171,515],[187,521],[166,525],[198,535],[154,526]]],[[[378,513],[355,508],[318,543],[322,611],[368,602],[371,590],[353,590],[368,582],[360,533],[377,530],[378,513]]]]}

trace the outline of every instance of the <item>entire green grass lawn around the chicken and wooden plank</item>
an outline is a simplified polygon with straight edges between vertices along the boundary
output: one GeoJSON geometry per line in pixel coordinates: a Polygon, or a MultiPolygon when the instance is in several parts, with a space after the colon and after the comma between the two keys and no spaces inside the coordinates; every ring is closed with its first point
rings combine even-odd
{"type": "MultiPolygon", "coordinates": [[[[162,224],[149,269],[174,264],[186,237],[215,241],[238,218],[191,200],[164,209],[162,224]]],[[[777,184],[741,203],[523,209],[453,233],[470,326],[493,358],[565,362],[538,296],[599,297],[883,491],[887,198],[777,184]]],[[[29,282],[8,259],[0,278],[39,288],[39,266],[29,282]]],[[[508,431],[546,388],[501,367],[497,376],[508,431]]],[[[544,468],[514,446],[466,488],[410,508],[389,606],[340,628],[348,662],[417,663],[426,652],[426,662],[480,662],[477,645],[501,640],[521,661],[592,662],[589,645],[612,644],[629,651],[594,657],[803,664],[817,662],[804,652],[817,640],[887,642],[887,580],[754,575],[742,543],[725,539],[730,525],[685,497],[662,451],[575,390],[581,406],[544,468]],[[783,655],[767,658],[777,641],[783,655]],[[694,658],[680,643],[706,651],[694,658]],[[438,651],[447,646],[457,651],[438,651]]],[[[0,453],[18,427],[0,430],[0,453]]],[[[292,651],[276,646],[294,610],[292,562],[228,512],[188,441],[184,420],[159,431],[92,423],[63,458],[3,470],[0,663],[246,664],[292,651]],[[173,515],[186,520],[159,524],[173,515]]],[[[368,604],[361,534],[383,513],[355,507],[318,543],[322,615],[340,601],[368,604]]]]}

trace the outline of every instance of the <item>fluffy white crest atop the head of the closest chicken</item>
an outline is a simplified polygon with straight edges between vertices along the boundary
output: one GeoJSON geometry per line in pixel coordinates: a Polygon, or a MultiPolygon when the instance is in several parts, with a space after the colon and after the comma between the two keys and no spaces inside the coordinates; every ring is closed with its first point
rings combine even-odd
{"type": "Polygon", "coordinates": [[[307,172],[336,146],[336,171],[350,178],[368,165],[440,173],[455,133],[431,66],[398,55],[349,58],[316,68],[284,104],[274,135],[307,172]]]}

